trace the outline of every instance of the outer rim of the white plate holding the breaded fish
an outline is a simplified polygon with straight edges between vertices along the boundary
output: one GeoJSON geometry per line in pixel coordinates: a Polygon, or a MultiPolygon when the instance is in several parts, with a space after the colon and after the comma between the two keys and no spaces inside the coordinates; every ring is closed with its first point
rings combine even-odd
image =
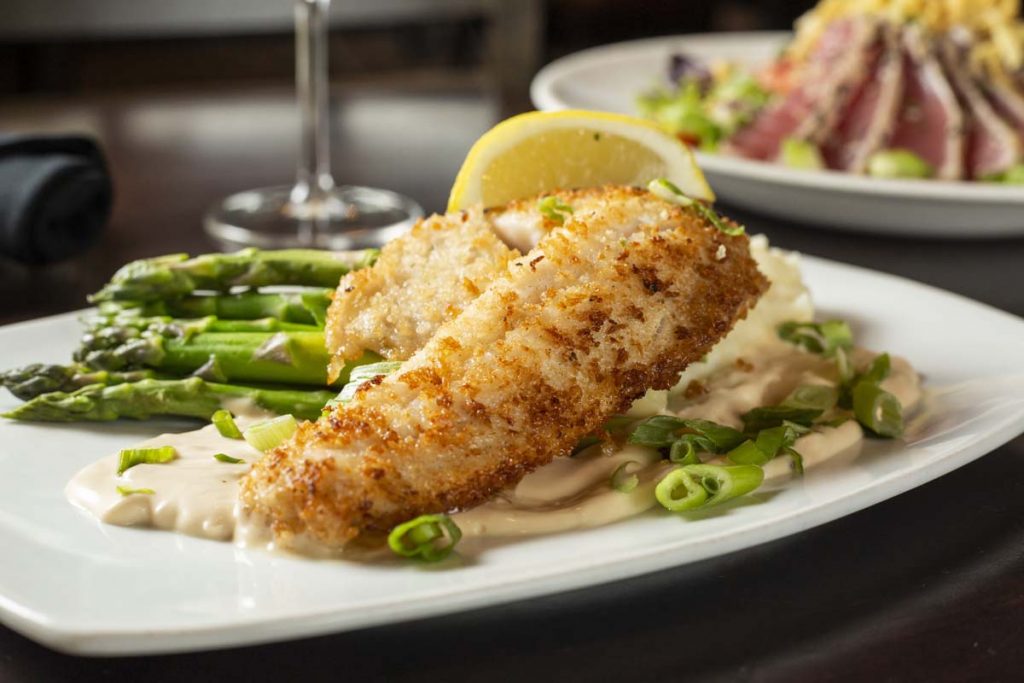
{"type": "MultiPolygon", "coordinates": [[[[812,268],[838,269],[840,271],[837,273],[838,275],[846,270],[885,281],[895,279],[900,284],[910,286],[912,289],[927,291],[933,296],[950,298],[956,303],[976,307],[979,312],[986,315],[995,314],[1004,322],[1015,326],[1015,330],[1024,340],[1024,318],[989,304],[933,285],[863,266],[807,255],[802,255],[802,259],[812,268]]],[[[47,322],[52,323],[59,318],[72,319],[73,316],[80,313],[81,311],[72,311],[3,326],[0,327],[0,333],[17,332],[25,327],[47,322]]],[[[716,551],[700,552],[697,550],[693,552],[693,549],[688,548],[684,542],[667,545],[656,551],[637,548],[624,553],[611,562],[594,563],[590,566],[573,568],[572,571],[546,573],[542,567],[540,570],[525,572],[524,578],[520,577],[514,582],[503,580],[501,577],[494,578],[490,584],[478,586],[470,592],[465,592],[460,588],[445,588],[442,591],[432,591],[412,598],[402,598],[400,602],[380,601],[362,610],[358,616],[351,612],[339,611],[337,608],[329,608],[305,614],[270,615],[241,621],[225,618],[223,623],[208,623],[198,628],[172,628],[158,633],[132,634],[129,638],[126,637],[124,630],[100,631],[81,626],[76,628],[74,624],[69,626],[55,623],[45,614],[35,611],[30,605],[13,604],[7,596],[0,594],[0,622],[38,642],[63,652],[86,655],[137,655],[199,651],[341,633],[385,624],[443,616],[454,612],[534,599],[568,590],[588,590],[652,571],[682,566],[711,557],[724,556],[840,519],[957,469],[994,451],[1022,431],[1024,431],[1024,413],[1009,414],[999,422],[998,429],[985,433],[981,438],[939,460],[931,461],[923,467],[890,475],[887,481],[895,479],[898,482],[896,485],[892,485],[892,482],[889,481],[885,486],[874,486],[867,490],[853,489],[845,494],[845,498],[852,497],[856,500],[856,505],[853,507],[840,507],[834,504],[835,501],[829,501],[828,504],[813,509],[810,515],[807,515],[807,510],[783,511],[776,516],[778,518],[773,517],[767,527],[759,524],[738,530],[730,531],[727,529],[725,532],[719,533],[720,537],[724,537],[725,541],[719,541],[721,545],[716,551]],[[811,517],[810,521],[808,521],[808,517],[811,517]],[[755,537],[755,540],[749,541],[750,537],[755,537]],[[723,546],[724,550],[721,549],[723,546]],[[689,553],[690,556],[680,557],[686,553],[689,553]],[[609,571],[609,569],[611,570],[609,571]],[[445,599],[438,604],[438,597],[445,599]]]]}

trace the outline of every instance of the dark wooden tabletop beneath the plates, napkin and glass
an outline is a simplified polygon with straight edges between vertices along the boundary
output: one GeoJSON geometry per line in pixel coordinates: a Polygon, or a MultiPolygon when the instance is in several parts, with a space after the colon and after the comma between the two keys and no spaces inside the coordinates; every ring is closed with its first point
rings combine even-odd
{"type": "MultiPolygon", "coordinates": [[[[339,179],[397,189],[428,210],[443,206],[462,156],[499,112],[463,89],[360,89],[339,103],[339,179]]],[[[295,125],[285,91],[0,104],[0,130],[95,132],[118,189],[111,227],[88,254],[41,269],[0,261],[0,322],[80,307],[127,260],[210,249],[204,209],[228,193],[287,181],[295,125]]],[[[1024,314],[1024,240],[914,241],[739,217],[779,246],[1024,314]]],[[[18,561],[2,550],[0,558],[18,561]]],[[[782,541],[455,616],[120,659],[58,654],[0,627],[0,681],[1013,681],[1024,676],[1022,646],[1018,438],[937,481],[782,541]]]]}

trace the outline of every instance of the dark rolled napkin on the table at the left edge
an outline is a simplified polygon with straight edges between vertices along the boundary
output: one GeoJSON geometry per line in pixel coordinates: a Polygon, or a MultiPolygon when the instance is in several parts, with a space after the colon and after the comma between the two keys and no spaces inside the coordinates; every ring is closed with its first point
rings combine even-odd
{"type": "Polygon", "coordinates": [[[74,256],[99,237],[113,199],[93,139],[0,133],[0,254],[31,264],[74,256]]]}

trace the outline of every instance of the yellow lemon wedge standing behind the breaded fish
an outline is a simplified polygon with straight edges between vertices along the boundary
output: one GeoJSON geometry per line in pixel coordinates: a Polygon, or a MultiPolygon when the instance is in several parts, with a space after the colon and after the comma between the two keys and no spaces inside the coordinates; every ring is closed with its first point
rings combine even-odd
{"type": "Polygon", "coordinates": [[[646,186],[655,178],[693,199],[715,199],[689,148],[651,122],[603,112],[530,112],[476,141],[447,209],[499,206],[557,188],[646,186]]]}

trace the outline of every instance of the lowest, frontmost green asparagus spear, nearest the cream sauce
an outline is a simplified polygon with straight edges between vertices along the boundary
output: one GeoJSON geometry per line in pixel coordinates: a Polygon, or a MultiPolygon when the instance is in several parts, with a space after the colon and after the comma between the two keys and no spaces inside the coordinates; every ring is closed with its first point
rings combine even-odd
{"type": "Polygon", "coordinates": [[[22,403],[3,417],[36,422],[108,421],[119,418],[146,420],[155,415],[210,417],[236,401],[313,420],[335,391],[308,388],[266,388],[207,382],[199,377],[183,380],[145,379],[127,384],[93,384],[71,393],[54,391],[22,403]]]}

